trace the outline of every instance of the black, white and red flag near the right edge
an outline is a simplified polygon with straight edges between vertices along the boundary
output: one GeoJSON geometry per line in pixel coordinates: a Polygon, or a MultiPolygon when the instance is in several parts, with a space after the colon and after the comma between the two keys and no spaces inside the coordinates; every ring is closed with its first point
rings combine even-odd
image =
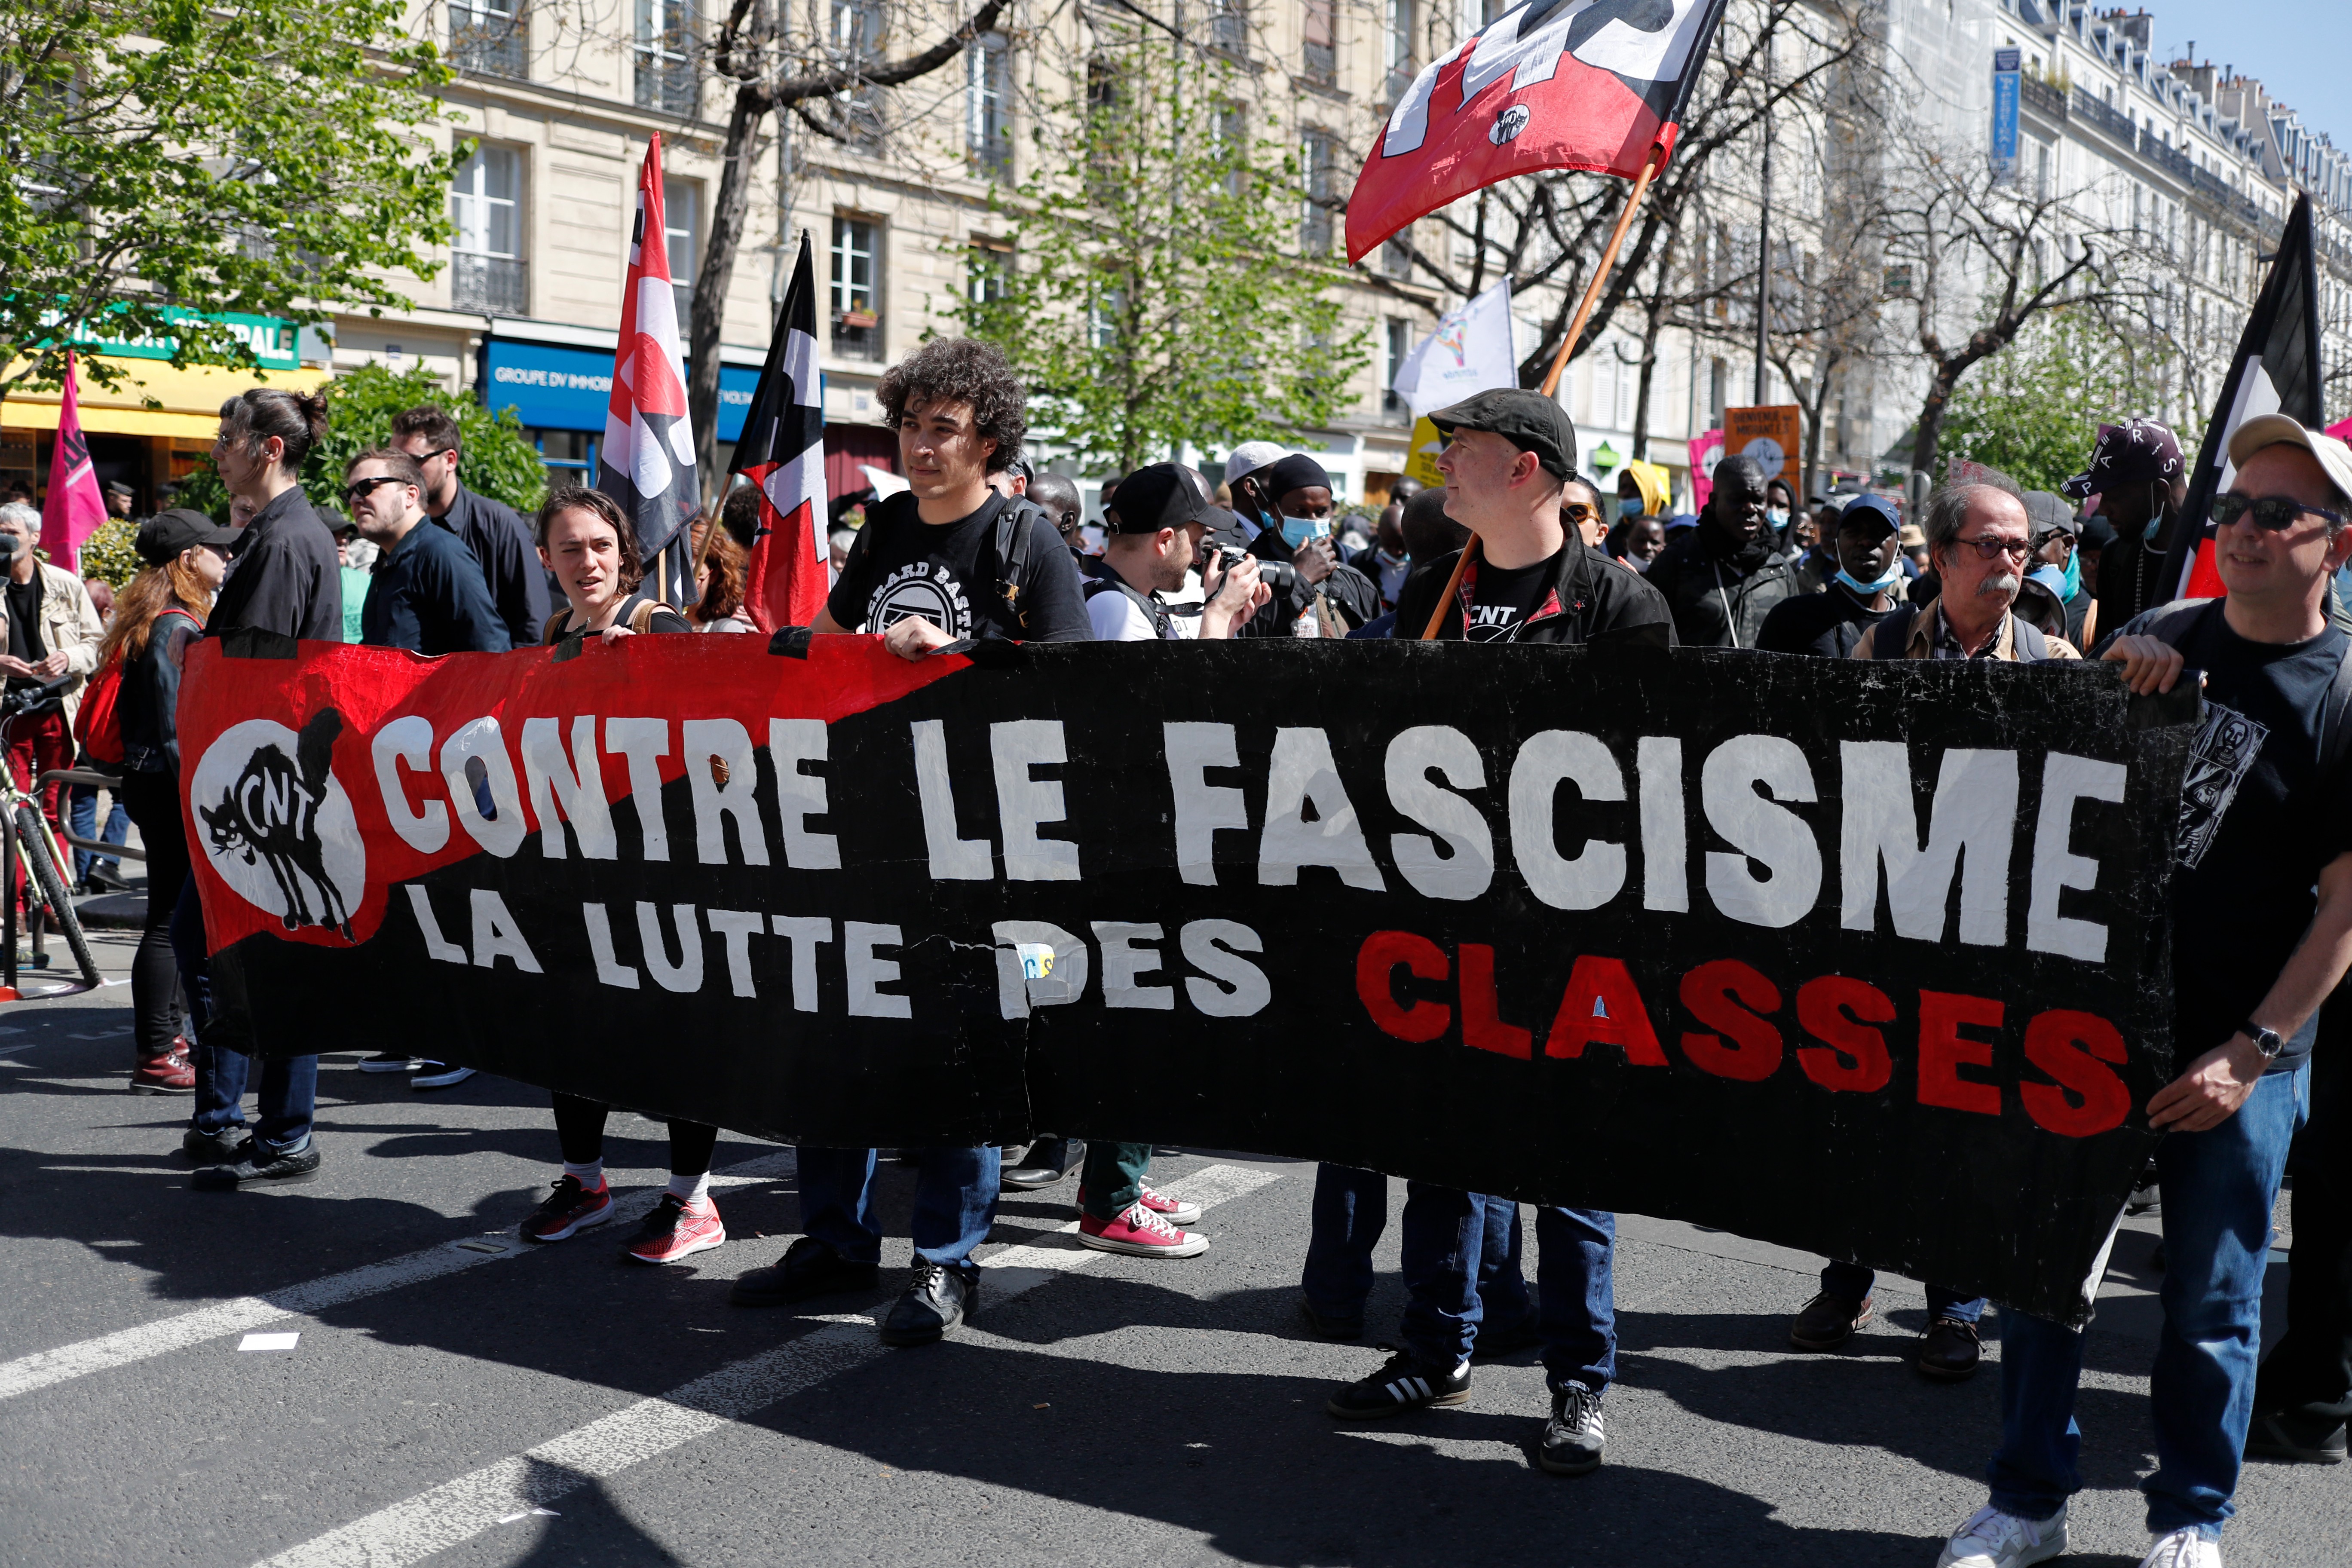
{"type": "Polygon", "coordinates": [[[2270,277],[2253,301],[2246,334],[2237,341],[2237,360],[2220,383],[2213,418],[2206,421],[2204,447],[2190,473],[2190,498],[2183,517],[2194,529],[2176,529],[2164,559],[2161,599],[2211,599],[2227,592],[2213,562],[2213,496],[2230,489],[2237,468],[2230,463],[2230,435],[2256,414],[2286,414],[2317,430],[2326,423],[2319,395],[2319,263],[2312,254],[2312,197],[2296,197],[2286,230],[2270,261],[2270,277]]]}

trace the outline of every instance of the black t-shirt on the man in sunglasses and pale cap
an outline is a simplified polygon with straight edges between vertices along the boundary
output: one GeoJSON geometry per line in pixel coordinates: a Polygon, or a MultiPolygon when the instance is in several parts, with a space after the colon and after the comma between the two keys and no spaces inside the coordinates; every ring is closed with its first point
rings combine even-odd
{"type": "MultiPolygon", "coordinates": [[[[2173,1056],[2185,1067],[2249,1020],[2312,924],[2319,870],[2352,849],[2352,766],[2331,778],[2319,757],[2340,630],[2246,642],[2216,604],[2173,646],[2206,677],[2171,891],[2173,1056]]],[[[2317,1030],[2312,1013],[2270,1070],[2305,1063],[2317,1030]]]]}

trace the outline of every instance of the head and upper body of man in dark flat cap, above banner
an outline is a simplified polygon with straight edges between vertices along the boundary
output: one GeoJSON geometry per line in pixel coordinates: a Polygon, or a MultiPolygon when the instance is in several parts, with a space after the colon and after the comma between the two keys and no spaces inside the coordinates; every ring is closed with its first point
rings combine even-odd
{"type": "MultiPolygon", "coordinates": [[[[1670,646],[1665,599],[1639,574],[1571,538],[1559,491],[1576,477],[1576,425],[1543,393],[1498,388],[1430,414],[1446,449],[1446,517],[1472,531],[1439,637],[1470,642],[1635,642],[1670,646]],[[1468,630],[1463,625],[1468,609],[1468,630]]],[[[1421,637],[1454,581],[1449,555],[1414,559],[1397,635],[1421,637]]]]}

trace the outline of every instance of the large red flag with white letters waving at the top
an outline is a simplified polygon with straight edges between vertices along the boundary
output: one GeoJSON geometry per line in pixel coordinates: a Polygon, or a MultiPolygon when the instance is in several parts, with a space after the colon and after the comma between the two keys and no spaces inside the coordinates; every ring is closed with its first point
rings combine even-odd
{"type": "Polygon", "coordinates": [[[1529,0],[1430,63],[1348,197],[1348,259],[1512,174],[1635,179],[1675,150],[1724,0],[1529,0]]]}

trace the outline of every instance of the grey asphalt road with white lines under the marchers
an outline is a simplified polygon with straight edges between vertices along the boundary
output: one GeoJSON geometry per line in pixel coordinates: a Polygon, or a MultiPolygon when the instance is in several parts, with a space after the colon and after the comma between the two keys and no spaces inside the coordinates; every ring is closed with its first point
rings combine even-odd
{"type": "MultiPolygon", "coordinates": [[[[103,952],[122,973],[127,938],[103,952]]],[[[127,985],[0,1006],[0,1561],[1926,1568],[1983,1500],[1994,1371],[1919,1380],[1900,1281],[1849,1354],[1792,1354],[1816,1265],[1783,1248],[1623,1220],[1609,1462],[1562,1481],[1534,1356],[1482,1366],[1465,1410],[1324,1415],[1402,1293],[1392,1225],[1367,1342],[1303,1333],[1312,1166],[1164,1152],[1155,1180],[1214,1201],[1197,1260],[1080,1251],[1070,1185],[1007,1197],[978,1319],[894,1352],[870,1316],[903,1284],[903,1171],[880,1291],[746,1312],[727,1284],[797,1222],[790,1150],[722,1138],[731,1241],[619,1267],[621,1225],[515,1241],[555,1175],[539,1091],[355,1063],[322,1063],[318,1182],[205,1194],[188,1103],[122,1088],[127,985]]],[[[661,1128],[616,1114],[607,1150],[649,1201],[661,1128]]],[[[2091,1331],[2070,1561],[2147,1544],[2152,1239],[2131,1222],[2091,1331]]],[[[2239,1509],[2232,1568],[2352,1561],[2352,1465],[2256,1465],[2239,1509]]]]}

